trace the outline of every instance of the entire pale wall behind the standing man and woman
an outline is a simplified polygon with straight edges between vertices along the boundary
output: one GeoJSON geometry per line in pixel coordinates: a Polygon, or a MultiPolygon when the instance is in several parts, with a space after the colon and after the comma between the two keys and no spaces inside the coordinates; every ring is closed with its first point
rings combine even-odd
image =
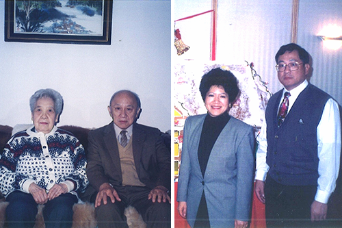
{"type": "MultiPolygon", "coordinates": [[[[211,0],[174,0],[174,19],[211,10],[211,0]]],[[[342,27],[341,0],[300,0],[298,45],[313,58],[311,83],[328,92],[342,103],[342,48],[326,49],[317,37],[330,23],[342,27]]],[[[267,81],[269,90],[276,92],[282,85],[277,79],[274,55],[282,45],[291,42],[292,1],[218,0],[218,62],[254,63],[254,69],[267,81]]],[[[210,14],[176,22],[182,40],[190,49],[175,60],[209,61],[210,14]]],[[[176,50],[174,49],[174,55],[176,50]]],[[[201,77],[202,75],[198,75],[201,77]]]]}

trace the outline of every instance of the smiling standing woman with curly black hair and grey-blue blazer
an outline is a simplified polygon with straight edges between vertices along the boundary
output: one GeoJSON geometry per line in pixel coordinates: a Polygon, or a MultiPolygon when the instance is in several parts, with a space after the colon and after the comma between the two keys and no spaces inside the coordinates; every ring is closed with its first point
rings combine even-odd
{"type": "Polygon", "coordinates": [[[177,201],[191,227],[245,228],[250,219],[254,133],[229,116],[239,88],[230,71],[214,68],[202,77],[207,114],[185,121],[177,201]]]}

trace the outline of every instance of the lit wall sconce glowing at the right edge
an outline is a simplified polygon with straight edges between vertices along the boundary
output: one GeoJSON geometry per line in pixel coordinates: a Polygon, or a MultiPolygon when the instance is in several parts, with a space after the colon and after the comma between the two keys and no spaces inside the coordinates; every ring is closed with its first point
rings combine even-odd
{"type": "Polygon", "coordinates": [[[337,50],[342,47],[342,28],[338,25],[328,25],[319,31],[319,38],[328,49],[337,50]]]}

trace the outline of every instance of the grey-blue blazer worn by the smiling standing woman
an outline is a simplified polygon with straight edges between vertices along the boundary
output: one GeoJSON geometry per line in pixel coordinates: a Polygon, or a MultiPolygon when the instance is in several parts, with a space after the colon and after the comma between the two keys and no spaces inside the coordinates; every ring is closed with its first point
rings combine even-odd
{"type": "Polygon", "coordinates": [[[204,190],[211,227],[234,227],[249,220],[254,175],[254,132],[231,117],[211,151],[205,177],[198,162],[198,144],[207,114],[185,121],[177,201],[187,202],[187,221],[194,227],[204,190]]]}

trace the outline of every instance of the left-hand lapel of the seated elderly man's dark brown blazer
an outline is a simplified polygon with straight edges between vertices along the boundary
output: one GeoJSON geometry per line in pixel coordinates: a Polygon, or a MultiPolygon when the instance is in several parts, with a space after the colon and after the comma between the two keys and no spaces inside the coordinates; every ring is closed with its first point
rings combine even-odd
{"type": "Polygon", "coordinates": [[[118,149],[118,142],[116,140],[116,134],[113,126],[113,122],[111,122],[109,125],[107,125],[105,131],[104,131],[104,141],[105,145],[107,147],[107,155],[111,157],[111,161],[120,172],[121,175],[121,164],[120,164],[120,155],[119,155],[119,149],[118,149]]]}

